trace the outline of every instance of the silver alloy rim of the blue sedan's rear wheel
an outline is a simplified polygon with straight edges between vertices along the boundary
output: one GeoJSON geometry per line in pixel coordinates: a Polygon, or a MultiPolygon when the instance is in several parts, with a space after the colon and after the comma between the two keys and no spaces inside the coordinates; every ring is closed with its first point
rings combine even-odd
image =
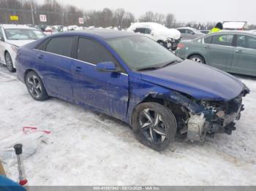
{"type": "Polygon", "coordinates": [[[31,95],[33,95],[35,98],[39,98],[42,93],[42,85],[39,82],[39,79],[34,75],[30,75],[27,78],[27,85],[31,95]]]}

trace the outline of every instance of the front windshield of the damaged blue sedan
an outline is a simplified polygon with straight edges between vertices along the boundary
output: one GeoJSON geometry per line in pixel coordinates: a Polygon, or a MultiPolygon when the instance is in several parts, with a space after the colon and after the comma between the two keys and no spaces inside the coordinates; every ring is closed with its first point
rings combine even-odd
{"type": "Polygon", "coordinates": [[[172,52],[146,36],[108,39],[108,44],[134,70],[158,68],[178,59],[172,52]]]}

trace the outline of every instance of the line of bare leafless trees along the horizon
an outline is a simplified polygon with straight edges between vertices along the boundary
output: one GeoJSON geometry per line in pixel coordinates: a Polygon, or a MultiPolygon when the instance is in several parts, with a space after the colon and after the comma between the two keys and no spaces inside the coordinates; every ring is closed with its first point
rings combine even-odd
{"type": "MultiPolygon", "coordinates": [[[[86,7],[86,9],[89,9],[89,7],[86,7]]],[[[43,4],[38,4],[35,0],[0,0],[0,23],[128,28],[130,23],[136,21],[161,23],[167,28],[191,26],[197,29],[208,29],[215,25],[213,22],[204,24],[197,22],[180,23],[177,22],[175,15],[171,13],[164,15],[148,11],[135,19],[132,12],[127,12],[121,8],[88,11],[72,5],[64,6],[56,0],[45,0],[43,4]],[[10,20],[10,15],[18,15],[19,20],[10,20]],[[46,15],[47,22],[40,22],[39,15],[46,15]],[[79,24],[79,17],[83,17],[84,24],[79,24]]],[[[249,29],[253,28],[256,28],[256,26],[249,26],[249,29]]]]}

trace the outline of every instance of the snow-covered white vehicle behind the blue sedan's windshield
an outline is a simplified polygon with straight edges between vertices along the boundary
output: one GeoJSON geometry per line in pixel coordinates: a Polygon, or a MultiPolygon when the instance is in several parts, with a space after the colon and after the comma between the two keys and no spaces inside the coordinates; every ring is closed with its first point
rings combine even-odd
{"type": "Polygon", "coordinates": [[[176,50],[181,41],[181,33],[174,28],[167,28],[159,23],[132,23],[127,31],[145,34],[170,50],[176,50]]]}

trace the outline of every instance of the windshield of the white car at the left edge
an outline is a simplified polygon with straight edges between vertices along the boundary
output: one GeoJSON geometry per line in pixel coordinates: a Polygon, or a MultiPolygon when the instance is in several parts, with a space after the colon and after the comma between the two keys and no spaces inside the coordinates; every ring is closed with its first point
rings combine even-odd
{"type": "Polygon", "coordinates": [[[8,40],[37,40],[45,36],[41,31],[29,28],[4,29],[8,40]]]}

